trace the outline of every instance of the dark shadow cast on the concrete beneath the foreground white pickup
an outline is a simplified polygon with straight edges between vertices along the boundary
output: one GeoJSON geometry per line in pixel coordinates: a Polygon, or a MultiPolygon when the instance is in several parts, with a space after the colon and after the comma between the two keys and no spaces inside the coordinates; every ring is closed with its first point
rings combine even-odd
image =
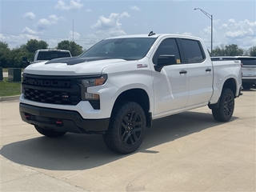
{"type": "MultiPolygon", "coordinates": [[[[230,121],[235,119],[233,117],[230,121]]],[[[214,121],[211,114],[190,111],[155,120],[153,126],[146,130],[142,146],[134,154],[161,153],[150,148],[202,130],[214,129],[220,124],[214,121]]],[[[65,134],[60,138],[46,138],[38,134],[38,138],[2,146],[0,153],[12,162],[45,170],[87,170],[133,155],[113,153],[106,148],[102,135],[96,134],[65,134]]]]}

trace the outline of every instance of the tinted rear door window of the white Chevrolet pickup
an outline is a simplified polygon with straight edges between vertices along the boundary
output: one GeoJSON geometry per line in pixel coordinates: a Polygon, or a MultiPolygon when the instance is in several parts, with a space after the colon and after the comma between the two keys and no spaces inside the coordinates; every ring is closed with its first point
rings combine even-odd
{"type": "Polygon", "coordinates": [[[196,40],[182,38],[182,48],[185,52],[187,62],[203,62],[206,58],[202,51],[201,43],[196,40]]]}

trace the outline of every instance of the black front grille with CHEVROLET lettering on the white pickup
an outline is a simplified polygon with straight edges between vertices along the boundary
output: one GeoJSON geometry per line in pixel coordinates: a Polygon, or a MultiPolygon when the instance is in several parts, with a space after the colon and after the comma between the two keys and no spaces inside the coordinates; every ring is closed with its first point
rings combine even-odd
{"type": "Polygon", "coordinates": [[[82,100],[78,79],[65,76],[23,74],[24,98],[58,105],[77,105],[82,100]]]}

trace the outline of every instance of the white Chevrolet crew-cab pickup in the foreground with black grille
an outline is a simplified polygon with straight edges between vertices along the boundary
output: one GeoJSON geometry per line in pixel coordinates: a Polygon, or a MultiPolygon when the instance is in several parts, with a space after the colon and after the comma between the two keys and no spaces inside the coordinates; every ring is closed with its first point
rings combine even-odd
{"type": "Polygon", "coordinates": [[[27,66],[19,110],[40,134],[103,134],[110,150],[129,154],[157,118],[208,105],[229,121],[241,85],[240,61],[211,62],[200,38],[150,32],[27,66]]]}

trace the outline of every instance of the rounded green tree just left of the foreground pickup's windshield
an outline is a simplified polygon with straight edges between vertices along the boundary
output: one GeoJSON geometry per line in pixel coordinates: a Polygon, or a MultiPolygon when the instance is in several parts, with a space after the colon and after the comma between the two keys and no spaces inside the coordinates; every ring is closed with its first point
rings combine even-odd
{"type": "Polygon", "coordinates": [[[58,43],[56,46],[57,50],[69,50],[73,57],[82,54],[82,46],[79,46],[75,42],[70,42],[68,40],[64,40],[58,43]]]}

